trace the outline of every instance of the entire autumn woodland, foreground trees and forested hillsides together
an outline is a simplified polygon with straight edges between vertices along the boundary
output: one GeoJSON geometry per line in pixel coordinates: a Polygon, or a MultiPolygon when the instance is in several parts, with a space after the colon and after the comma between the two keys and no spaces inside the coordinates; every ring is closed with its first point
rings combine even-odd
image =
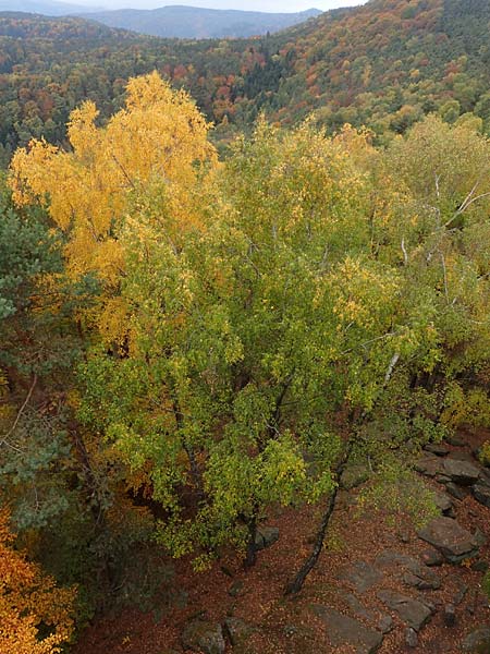
{"type": "Polygon", "coordinates": [[[457,9],[163,45],[3,19],[2,654],[151,607],[156,553],[253,566],[268,507],[334,498],[346,462],[430,514],[419,449],[490,426],[488,50],[457,9]],[[266,117],[219,156],[180,85],[266,117]]]}

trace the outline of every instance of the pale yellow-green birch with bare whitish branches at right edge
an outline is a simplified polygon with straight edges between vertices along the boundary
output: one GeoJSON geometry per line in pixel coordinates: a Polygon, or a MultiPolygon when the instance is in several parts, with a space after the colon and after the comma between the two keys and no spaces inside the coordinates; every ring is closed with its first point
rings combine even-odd
{"type": "Polygon", "coordinates": [[[438,396],[436,422],[455,426],[488,387],[490,143],[471,124],[429,117],[393,142],[383,167],[397,199],[380,256],[399,261],[408,301],[426,298],[437,350],[431,367],[412,362],[412,384],[438,396]]]}

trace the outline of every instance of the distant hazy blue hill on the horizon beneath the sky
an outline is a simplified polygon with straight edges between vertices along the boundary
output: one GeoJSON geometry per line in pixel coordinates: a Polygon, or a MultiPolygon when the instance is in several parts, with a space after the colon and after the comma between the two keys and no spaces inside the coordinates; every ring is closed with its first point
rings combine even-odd
{"type": "Polygon", "coordinates": [[[155,10],[97,12],[87,14],[86,17],[110,27],[167,38],[223,38],[279,32],[320,13],[317,9],[298,13],[265,13],[172,5],[155,10]]]}

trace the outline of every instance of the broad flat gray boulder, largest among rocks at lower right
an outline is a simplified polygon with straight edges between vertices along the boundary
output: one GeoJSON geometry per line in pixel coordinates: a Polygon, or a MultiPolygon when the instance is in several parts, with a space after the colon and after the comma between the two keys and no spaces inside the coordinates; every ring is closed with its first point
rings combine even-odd
{"type": "Polygon", "coordinates": [[[478,550],[474,536],[452,518],[434,518],[418,530],[417,535],[437,547],[452,564],[473,557],[478,550]]]}

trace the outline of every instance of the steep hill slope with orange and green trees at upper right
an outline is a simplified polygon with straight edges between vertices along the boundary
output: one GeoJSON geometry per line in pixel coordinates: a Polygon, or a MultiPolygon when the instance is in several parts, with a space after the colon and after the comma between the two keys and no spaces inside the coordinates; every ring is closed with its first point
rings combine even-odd
{"type": "Polygon", "coordinates": [[[255,70],[244,94],[282,122],[319,109],[328,126],[403,132],[430,111],[457,118],[490,88],[489,23],[488,0],[371,0],[329,12],[278,41],[268,65],[286,68],[281,78],[255,70]]]}

